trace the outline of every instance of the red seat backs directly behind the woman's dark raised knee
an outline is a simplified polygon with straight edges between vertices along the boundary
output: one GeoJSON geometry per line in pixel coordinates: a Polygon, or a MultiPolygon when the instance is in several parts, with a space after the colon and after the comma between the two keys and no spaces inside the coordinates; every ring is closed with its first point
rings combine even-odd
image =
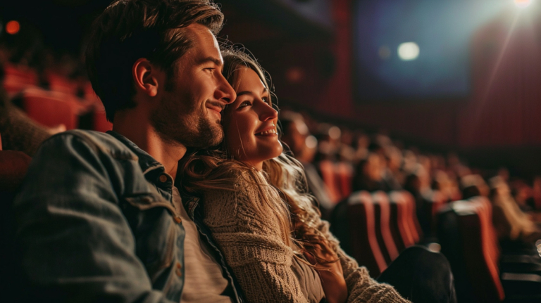
{"type": "Polygon", "coordinates": [[[330,221],[342,249],[373,278],[423,238],[415,200],[406,191],[352,193],[336,205],[330,221]]]}

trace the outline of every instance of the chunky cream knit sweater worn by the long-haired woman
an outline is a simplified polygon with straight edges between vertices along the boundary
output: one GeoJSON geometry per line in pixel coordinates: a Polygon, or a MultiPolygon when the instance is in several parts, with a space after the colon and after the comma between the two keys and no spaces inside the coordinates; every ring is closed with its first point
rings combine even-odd
{"type": "MultiPolygon", "coordinates": [[[[270,212],[257,214],[261,210],[252,209],[250,201],[261,202],[256,186],[240,177],[234,190],[205,193],[201,202],[204,224],[210,228],[248,302],[308,302],[292,271],[294,252],[281,240],[278,220],[270,212]]],[[[334,239],[328,222],[319,219],[313,209],[312,214],[318,218],[318,228],[334,239]]],[[[366,268],[359,267],[342,250],[339,256],[348,303],[409,302],[392,286],[370,278],[366,268]]]]}

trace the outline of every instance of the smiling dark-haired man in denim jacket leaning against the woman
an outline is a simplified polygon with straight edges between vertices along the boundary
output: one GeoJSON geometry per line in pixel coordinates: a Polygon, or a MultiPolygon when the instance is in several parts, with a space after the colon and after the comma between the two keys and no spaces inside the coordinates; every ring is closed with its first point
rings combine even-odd
{"type": "Polygon", "coordinates": [[[20,296],[240,301],[219,255],[194,249],[173,186],[187,148],[222,140],[220,112],[236,98],[221,75],[222,22],[209,0],[117,0],[94,22],[87,68],[113,131],[68,131],[35,155],[14,205],[30,281],[20,296]],[[185,268],[200,259],[214,276],[198,285],[185,268]]]}

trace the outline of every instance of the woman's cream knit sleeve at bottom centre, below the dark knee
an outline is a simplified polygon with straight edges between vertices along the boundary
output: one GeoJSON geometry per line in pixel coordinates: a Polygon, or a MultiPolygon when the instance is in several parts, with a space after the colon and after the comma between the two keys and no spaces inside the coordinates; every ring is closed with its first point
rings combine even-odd
{"type": "MultiPolygon", "coordinates": [[[[318,221],[318,230],[331,241],[338,241],[329,231],[328,221],[313,212],[313,219],[318,221]]],[[[344,272],[344,279],[347,284],[347,303],[408,303],[409,301],[399,295],[397,290],[385,283],[378,283],[368,275],[364,266],[359,266],[355,259],[349,257],[339,247],[338,257],[344,272]]],[[[411,302],[409,302],[411,303],[411,302]]]]}

